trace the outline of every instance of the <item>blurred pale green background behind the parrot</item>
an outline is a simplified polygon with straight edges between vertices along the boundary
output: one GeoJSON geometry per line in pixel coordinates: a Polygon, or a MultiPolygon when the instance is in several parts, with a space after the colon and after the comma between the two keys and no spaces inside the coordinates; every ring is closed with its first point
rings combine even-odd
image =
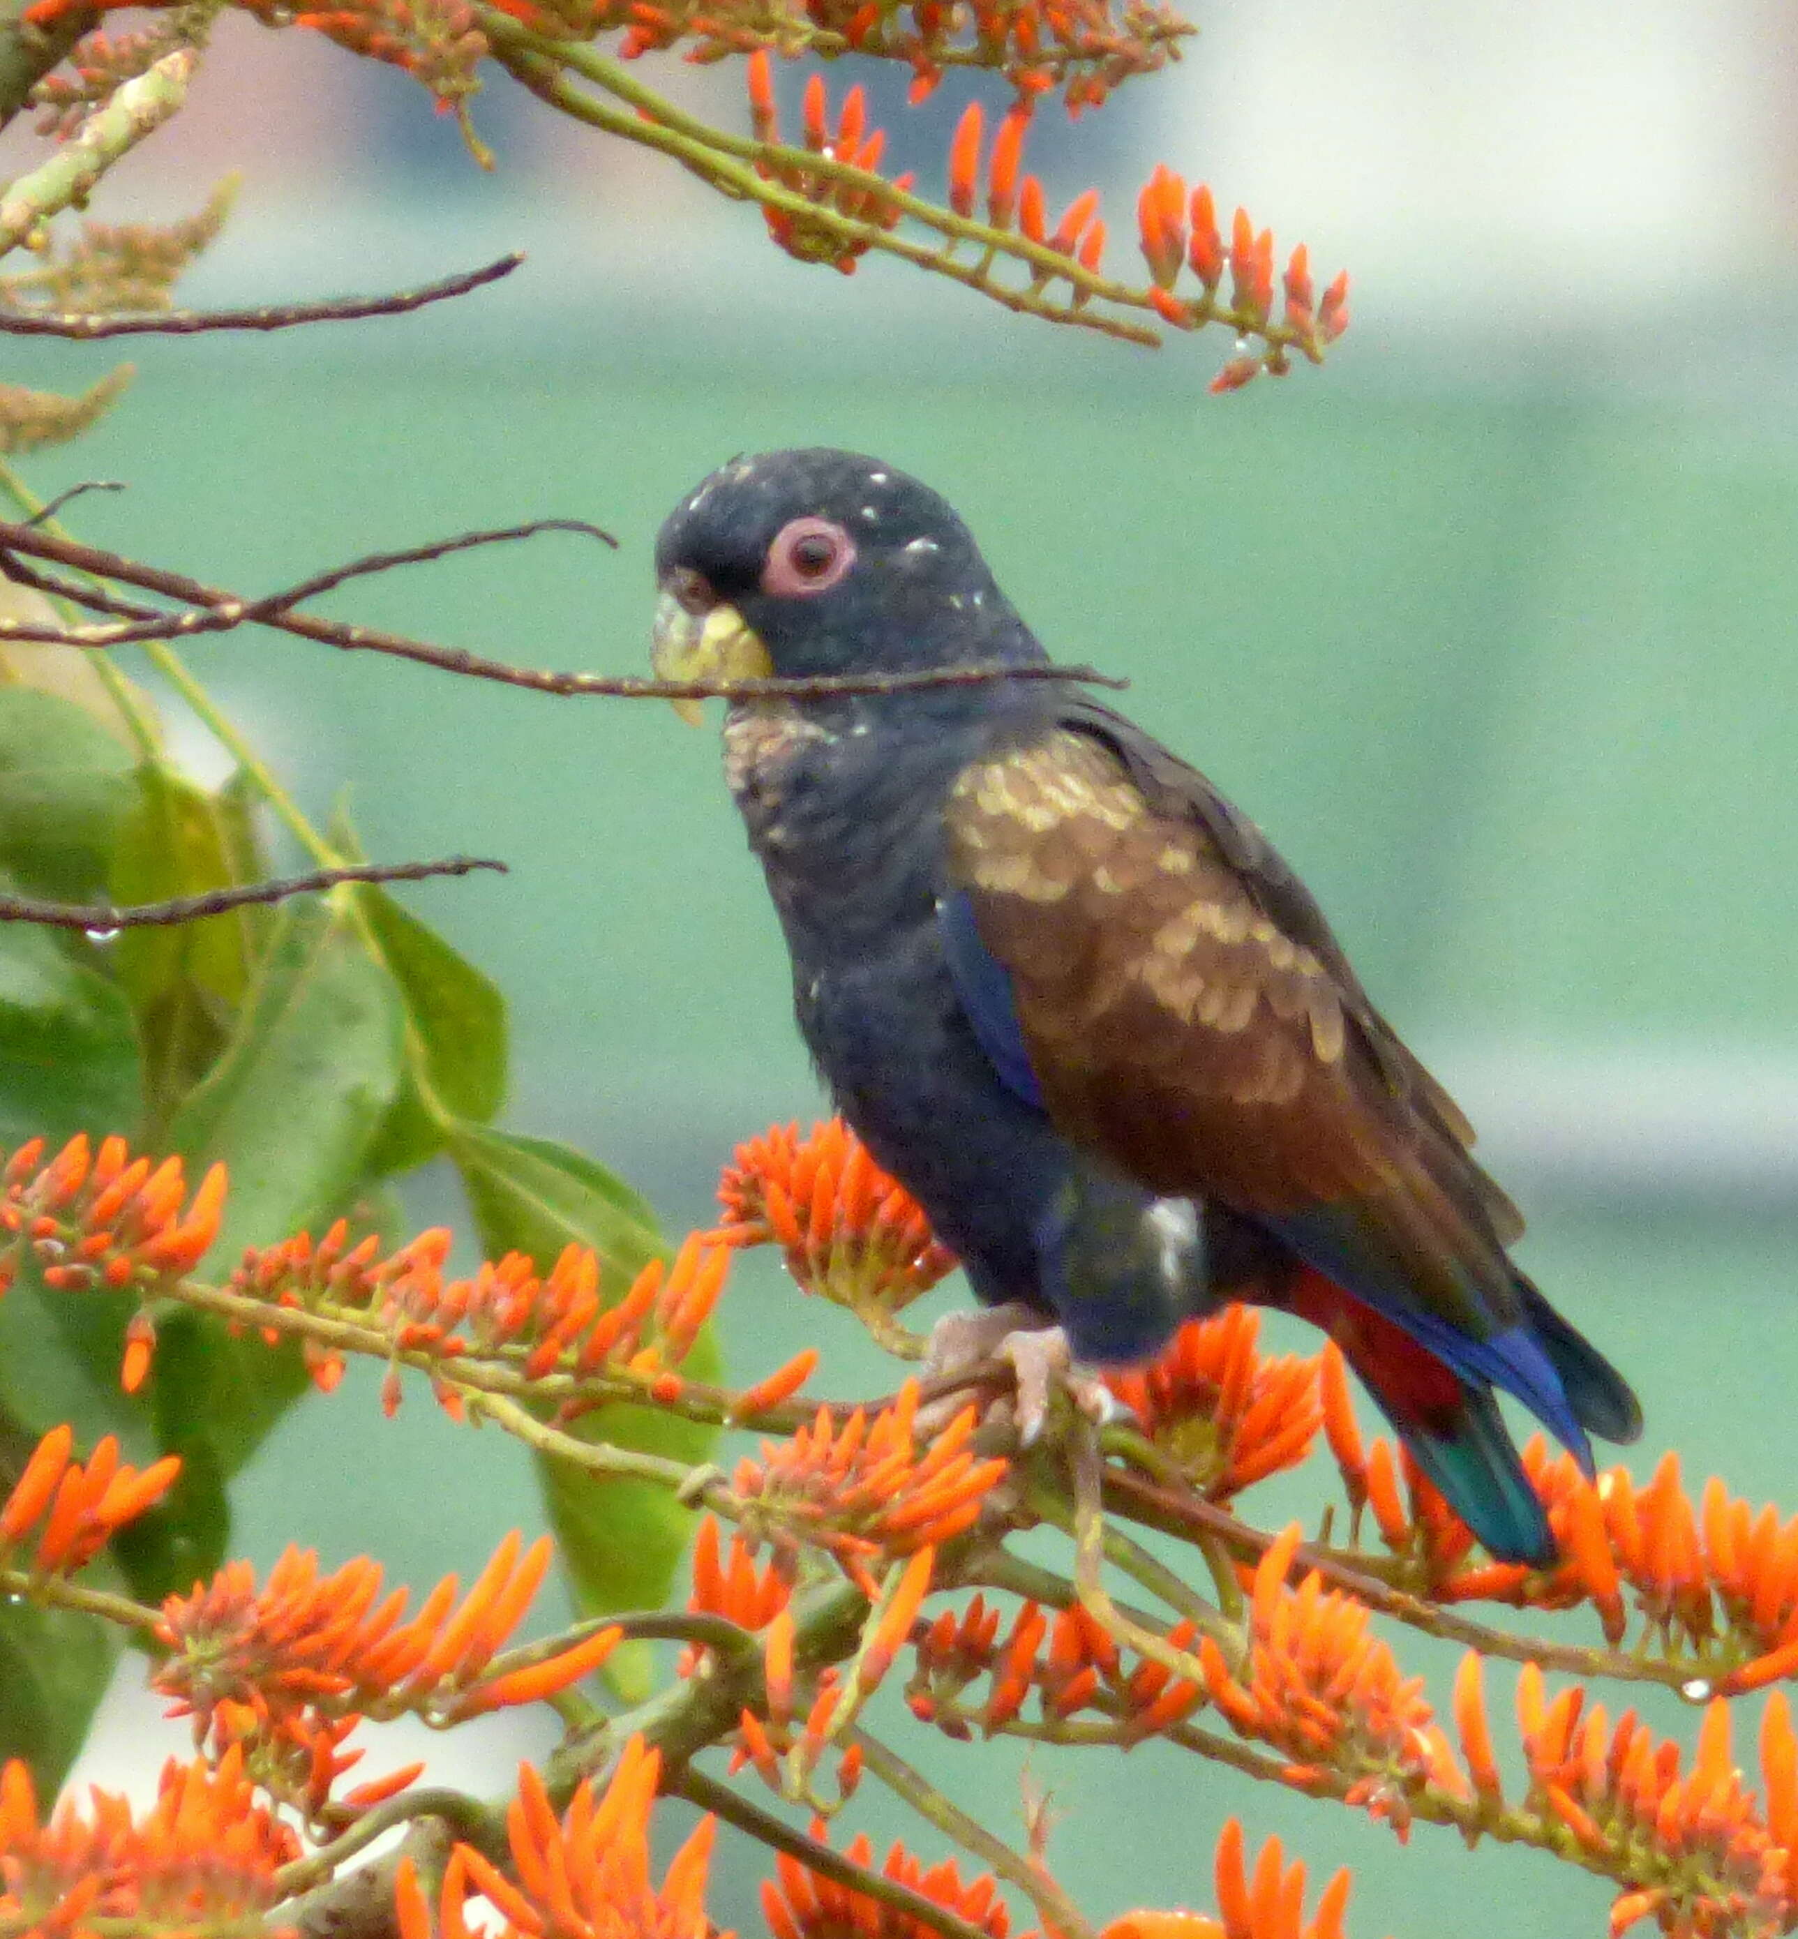
{"type": "MultiPolygon", "coordinates": [[[[336,281],[479,260],[508,209],[388,211],[363,252],[330,258],[336,281]]],[[[320,287],[332,219],[250,221],[258,287],[320,287]]],[[[638,256],[617,287],[603,258],[576,275],[551,248],[458,314],[145,341],[126,405],[33,463],[33,485],[130,481],[70,514],[83,537],[242,591],[466,527],[597,520],[619,555],[549,537],[363,584],[332,611],[528,665],[638,671],[650,541],[716,463],[828,442],[923,473],[1051,652],[1129,675],[1123,704],[1303,871],[1377,1001],[1488,1128],[1532,1216],[1526,1264],[1641,1388],[1639,1472],[1678,1446],[1693,1483],[1720,1472],[1798,1505],[1782,392],[1746,372],[1643,382],[1627,345],[1606,365],[1513,341],[1459,368],[1455,339],[1420,347],[1393,322],[1404,291],[1381,289],[1329,370],[1212,401],[1224,351],[1204,341],[1162,359],[1069,343],[927,301],[898,271],[846,285],[756,256],[751,273],[735,242],[690,235],[652,275],[654,240],[625,237],[638,256]]],[[[10,357],[17,380],[58,388],[99,368],[99,349],[10,357]]],[[[248,634],[192,663],[308,807],[347,793],[372,855],[512,865],[407,894],[510,995],[510,1125],[586,1146],[681,1229],[708,1220],[735,1138],[819,1109],[712,731],[248,634]]],[[[175,706],[169,721],[204,766],[175,706]]],[[[454,1214],[429,1173],[411,1204],[454,1214]]],[[[760,1258],[723,1336],[743,1377],[822,1340],[824,1390],[888,1379],[760,1258]]],[[[386,1423],[353,1381],[260,1456],[239,1547],[258,1563],[289,1540],[326,1561],[372,1547],[419,1584],[466,1573],[537,1514],[514,1454],[423,1396],[386,1423]]],[[[1268,1491],[1274,1514],[1305,1503],[1268,1491]]],[[[1493,1677],[1495,1710],[1507,1689],[1493,1677]]],[[[1674,1708],[1664,1728],[1687,1722],[1674,1708]]],[[[923,1761],[1016,1832],[1011,1749],[935,1743],[923,1761]]],[[[1602,1927],[1608,1889],[1567,1867],[1468,1856],[1429,1828],[1400,1852],[1364,1819],[1160,1747],[1032,1768],[1067,1813],[1057,1869],[1100,1916],[1208,1904],[1216,1825],[1241,1811],[1321,1871],[1356,1865],[1362,1935],[1602,1927]]],[[[877,1838],[902,1828],[863,1801],[877,1838]]],[[[758,1875],[755,1854],[725,1854],[722,1923],[760,1929],[758,1875]]]]}

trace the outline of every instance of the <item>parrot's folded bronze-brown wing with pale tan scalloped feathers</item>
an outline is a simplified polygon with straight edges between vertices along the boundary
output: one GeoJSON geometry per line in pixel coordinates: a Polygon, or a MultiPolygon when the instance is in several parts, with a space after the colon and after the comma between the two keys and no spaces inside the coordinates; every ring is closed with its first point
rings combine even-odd
{"type": "Polygon", "coordinates": [[[1055,1125],[1156,1192],[1354,1204],[1476,1332],[1517,1313],[1509,1200],[1261,832],[1102,708],[972,766],[948,869],[1055,1125]]]}

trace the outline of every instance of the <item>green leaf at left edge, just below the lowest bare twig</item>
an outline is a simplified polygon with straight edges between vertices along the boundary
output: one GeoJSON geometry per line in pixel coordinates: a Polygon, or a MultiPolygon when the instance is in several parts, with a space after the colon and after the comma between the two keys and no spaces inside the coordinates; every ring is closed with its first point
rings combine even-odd
{"type": "Polygon", "coordinates": [[[138,1033],[122,993],[74,944],[0,923],[0,1146],[78,1130],[130,1132],[144,1111],[138,1033]]]}

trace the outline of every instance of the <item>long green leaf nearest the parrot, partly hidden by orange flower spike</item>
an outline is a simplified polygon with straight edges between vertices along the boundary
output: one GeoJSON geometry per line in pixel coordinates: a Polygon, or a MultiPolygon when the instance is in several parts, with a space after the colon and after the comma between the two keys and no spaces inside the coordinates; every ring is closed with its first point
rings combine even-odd
{"type": "MultiPolygon", "coordinates": [[[[491,1258],[520,1251],[547,1268],[564,1245],[590,1245],[599,1255],[601,1287],[617,1299],[652,1258],[665,1256],[644,1200],[564,1144],[458,1125],[450,1154],[491,1258]]],[[[700,1381],[716,1375],[710,1332],[685,1365],[700,1381]]],[[[704,1460],[716,1439],[698,1421],[625,1402],[582,1415],[570,1433],[689,1462],[704,1460]]],[[[541,1456],[537,1479],[582,1613],[659,1607],[687,1547],[692,1510],[648,1481],[599,1478],[541,1456]]],[[[607,1671],[619,1693],[634,1701],[646,1668],[644,1652],[621,1650],[607,1671]]]]}

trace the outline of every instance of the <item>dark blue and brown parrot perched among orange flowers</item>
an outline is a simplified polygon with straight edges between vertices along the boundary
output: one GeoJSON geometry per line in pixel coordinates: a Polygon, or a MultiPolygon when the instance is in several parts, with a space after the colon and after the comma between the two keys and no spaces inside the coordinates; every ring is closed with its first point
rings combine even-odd
{"type": "MultiPolygon", "coordinates": [[[[712,473],[656,572],[671,679],[1045,663],[948,504],[848,452],[712,473]]],[[[1493,1555],[1554,1555],[1495,1392],[1589,1472],[1635,1396],[1247,816],[1065,681],[739,700],[723,743],[813,1059],[995,1309],[939,1350],[1003,1344],[1040,1417],[1055,1348],[1298,1313],[1493,1555]]]]}

